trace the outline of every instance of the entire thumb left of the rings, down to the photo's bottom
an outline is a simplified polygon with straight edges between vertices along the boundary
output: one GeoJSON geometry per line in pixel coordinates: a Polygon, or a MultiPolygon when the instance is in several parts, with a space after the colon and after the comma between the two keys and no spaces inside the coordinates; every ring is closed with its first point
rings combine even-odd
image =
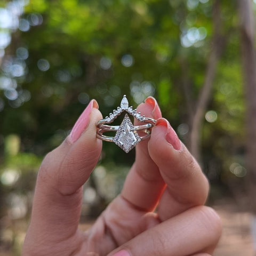
{"type": "Polygon", "coordinates": [[[82,235],[76,232],[82,207],[81,187],[101,153],[102,142],[96,138],[96,123],[101,118],[98,103],[92,100],[67,139],[44,158],[22,255],[31,250],[38,252],[38,244],[51,248],[45,255],[63,255],[56,253],[59,249],[55,245],[68,237],[73,237],[76,243],[71,239],[73,242],[63,244],[63,252],[67,254],[81,243],[82,235]]]}

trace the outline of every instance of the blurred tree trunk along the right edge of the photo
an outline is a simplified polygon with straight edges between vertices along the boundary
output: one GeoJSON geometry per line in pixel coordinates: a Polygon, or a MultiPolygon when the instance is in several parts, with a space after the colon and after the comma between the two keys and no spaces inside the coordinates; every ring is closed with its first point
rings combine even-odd
{"type": "MultiPolygon", "coordinates": [[[[251,210],[254,215],[252,234],[256,236],[256,54],[254,46],[254,20],[251,0],[239,0],[241,21],[241,53],[244,71],[244,87],[246,98],[246,166],[248,171],[247,184],[251,210]]],[[[256,251],[256,237],[254,237],[256,251]]]]}

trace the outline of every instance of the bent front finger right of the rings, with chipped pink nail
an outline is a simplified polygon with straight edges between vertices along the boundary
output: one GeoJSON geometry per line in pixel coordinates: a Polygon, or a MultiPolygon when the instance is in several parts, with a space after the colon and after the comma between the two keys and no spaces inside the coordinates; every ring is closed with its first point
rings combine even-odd
{"type": "Polygon", "coordinates": [[[157,120],[148,150],[167,185],[158,205],[159,219],[164,221],[205,203],[209,183],[166,119],[157,120]]]}

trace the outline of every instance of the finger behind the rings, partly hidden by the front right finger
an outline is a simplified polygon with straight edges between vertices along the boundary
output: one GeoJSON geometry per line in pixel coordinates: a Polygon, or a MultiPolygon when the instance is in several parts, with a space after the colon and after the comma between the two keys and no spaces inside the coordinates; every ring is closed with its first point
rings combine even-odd
{"type": "MultiPolygon", "coordinates": [[[[141,103],[138,111],[147,117],[155,119],[161,117],[160,108],[153,97],[141,103]]],[[[134,120],[134,125],[140,124],[139,121],[134,120]]],[[[130,202],[133,207],[152,211],[158,203],[164,186],[158,166],[149,156],[148,140],[141,141],[136,147],[135,162],[125,180],[122,198],[130,202]]]]}

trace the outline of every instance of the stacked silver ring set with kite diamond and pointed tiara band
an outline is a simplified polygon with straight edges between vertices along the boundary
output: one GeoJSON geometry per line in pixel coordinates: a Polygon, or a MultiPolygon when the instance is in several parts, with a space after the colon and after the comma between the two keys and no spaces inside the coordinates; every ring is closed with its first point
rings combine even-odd
{"type": "Polygon", "coordinates": [[[151,128],[156,124],[156,120],[153,118],[142,116],[141,113],[137,113],[137,109],[129,107],[129,102],[124,95],[120,107],[117,107],[113,113],[101,119],[97,124],[97,138],[109,142],[115,142],[117,146],[122,148],[126,153],[129,153],[141,140],[146,140],[151,135],[151,128]],[[126,114],[121,125],[109,125],[124,111],[126,114]],[[136,118],[141,125],[134,126],[131,119],[127,114],[130,114],[136,118]],[[103,135],[105,132],[116,132],[114,137],[103,135]],[[142,136],[139,133],[143,133],[142,136]]]}

